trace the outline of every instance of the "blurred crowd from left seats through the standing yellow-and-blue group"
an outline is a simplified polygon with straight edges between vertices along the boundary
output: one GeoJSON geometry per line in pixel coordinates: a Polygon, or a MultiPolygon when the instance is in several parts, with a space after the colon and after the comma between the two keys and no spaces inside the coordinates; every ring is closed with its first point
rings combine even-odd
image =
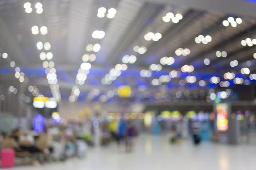
{"type": "MultiPolygon", "coordinates": [[[[11,133],[0,132],[0,149],[12,149],[16,157],[45,155],[51,160],[65,160],[68,157],[83,157],[88,147],[93,147],[95,131],[100,131],[99,144],[106,146],[116,142],[120,147],[125,146],[126,152],[133,149],[133,139],[137,130],[132,120],[114,119],[97,122],[92,120],[85,123],[69,124],[67,126],[45,127],[44,132],[35,133],[33,130],[17,128],[11,133]]],[[[41,160],[36,160],[41,163],[41,160]]]]}

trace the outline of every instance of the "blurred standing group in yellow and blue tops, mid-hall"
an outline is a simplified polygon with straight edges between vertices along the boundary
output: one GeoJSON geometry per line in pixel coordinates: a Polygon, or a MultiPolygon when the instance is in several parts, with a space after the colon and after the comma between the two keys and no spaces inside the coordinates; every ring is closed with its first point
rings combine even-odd
{"type": "MultiPolygon", "coordinates": [[[[102,126],[102,144],[104,144],[105,136],[104,133],[107,132],[106,126],[102,126]]],[[[125,143],[125,148],[127,152],[131,152],[133,149],[133,140],[137,136],[137,130],[131,120],[121,119],[120,122],[112,119],[108,123],[108,131],[111,138],[117,142],[118,146],[125,143]]]]}

